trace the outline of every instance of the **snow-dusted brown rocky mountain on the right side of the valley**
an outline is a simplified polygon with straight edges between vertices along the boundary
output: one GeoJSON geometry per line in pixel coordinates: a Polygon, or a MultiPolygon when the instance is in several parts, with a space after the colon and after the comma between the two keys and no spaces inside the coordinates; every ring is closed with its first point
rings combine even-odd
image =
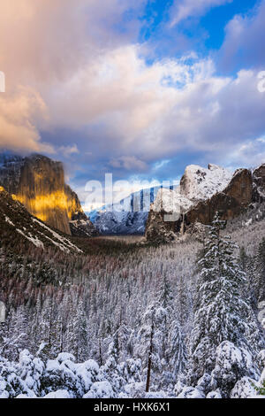
{"type": "Polygon", "coordinates": [[[171,241],[196,223],[210,224],[216,212],[231,220],[250,204],[264,201],[264,195],[265,165],[235,173],[215,165],[187,166],[178,189],[158,192],[148,215],[146,238],[171,241]]]}

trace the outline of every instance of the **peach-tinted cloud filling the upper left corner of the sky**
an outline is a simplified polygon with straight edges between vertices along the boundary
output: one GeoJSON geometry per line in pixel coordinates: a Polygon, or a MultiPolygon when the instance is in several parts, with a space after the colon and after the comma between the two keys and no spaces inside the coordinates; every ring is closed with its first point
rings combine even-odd
{"type": "MultiPolygon", "coordinates": [[[[140,11],[146,0],[9,0],[1,1],[0,70],[5,73],[6,92],[1,103],[1,142],[17,150],[48,151],[42,143],[40,104],[50,114],[52,91],[61,94],[59,105],[67,100],[64,83],[92,63],[106,50],[127,43],[138,33],[137,19],[123,24],[124,13],[140,11]],[[135,23],[136,22],[136,23],[135,23]],[[123,27],[122,33],[115,27],[123,27]],[[123,25],[123,26],[122,26],[123,25]],[[31,95],[19,86],[30,86],[31,95]],[[16,98],[13,98],[16,96],[16,98]],[[31,113],[24,105],[31,105],[31,113]],[[35,108],[34,108],[35,106],[35,108]],[[8,108],[12,117],[6,118],[8,108]],[[27,117],[28,115],[28,117],[27,117]],[[19,119],[19,122],[18,120],[19,119]]],[[[74,103],[72,103],[74,108],[74,103]]]]}

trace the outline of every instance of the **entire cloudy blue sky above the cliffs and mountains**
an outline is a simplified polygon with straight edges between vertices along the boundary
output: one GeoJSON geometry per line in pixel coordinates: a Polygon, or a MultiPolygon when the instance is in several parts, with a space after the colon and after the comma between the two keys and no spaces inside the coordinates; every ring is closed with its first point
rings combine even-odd
{"type": "Polygon", "coordinates": [[[87,181],[265,161],[265,0],[0,0],[0,148],[87,181]],[[260,86],[260,88],[259,88],[260,86]]]}

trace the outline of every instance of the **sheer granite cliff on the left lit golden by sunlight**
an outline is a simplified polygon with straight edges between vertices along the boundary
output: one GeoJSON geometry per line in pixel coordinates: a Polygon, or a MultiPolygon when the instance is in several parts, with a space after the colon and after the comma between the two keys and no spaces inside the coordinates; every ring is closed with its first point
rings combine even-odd
{"type": "Polygon", "coordinates": [[[2,157],[0,163],[0,184],[38,219],[68,235],[70,221],[89,221],[78,196],[65,185],[61,162],[34,155],[2,157]]]}

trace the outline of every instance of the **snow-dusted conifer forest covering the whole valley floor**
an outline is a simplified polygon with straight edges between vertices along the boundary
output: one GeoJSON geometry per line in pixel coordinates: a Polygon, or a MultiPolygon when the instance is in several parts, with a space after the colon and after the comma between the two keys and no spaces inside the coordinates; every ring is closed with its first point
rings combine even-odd
{"type": "Polygon", "coordinates": [[[239,225],[72,256],[2,243],[0,397],[264,394],[265,224],[239,225]]]}

